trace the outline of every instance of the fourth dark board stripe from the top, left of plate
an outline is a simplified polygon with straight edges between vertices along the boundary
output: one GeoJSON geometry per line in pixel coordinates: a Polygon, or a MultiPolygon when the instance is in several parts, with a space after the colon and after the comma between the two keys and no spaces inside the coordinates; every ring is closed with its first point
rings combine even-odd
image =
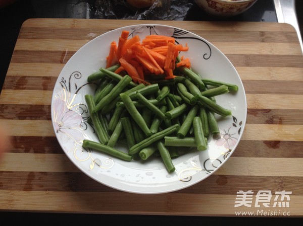
{"type": "Polygon", "coordinates": [[[2,119],[52,120],[51,105],[0,104],[2,119]]]}

